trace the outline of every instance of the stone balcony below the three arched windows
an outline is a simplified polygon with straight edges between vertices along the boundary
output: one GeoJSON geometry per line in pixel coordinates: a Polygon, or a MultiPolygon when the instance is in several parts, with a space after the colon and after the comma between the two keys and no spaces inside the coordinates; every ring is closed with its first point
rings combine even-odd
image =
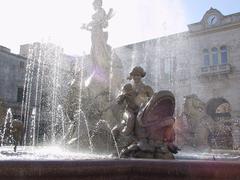
{"type": "Polygon", "coordinates": [[[201,67],[201,75],[218,75],[218,74],[229,74],[231,72],[230,64],[219,64],[214,66],[201,67]]]}

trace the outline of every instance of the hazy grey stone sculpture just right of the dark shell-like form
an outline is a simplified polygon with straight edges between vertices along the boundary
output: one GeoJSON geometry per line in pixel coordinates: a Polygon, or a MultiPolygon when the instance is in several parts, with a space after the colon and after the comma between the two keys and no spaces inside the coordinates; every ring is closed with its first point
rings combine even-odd
{"type": "Polygon", "coordinates": [[[177,142],[181,148],[206,150],[209,148],[208,138],[214,122],[206,114],[206,104],[197,95],[185,96],[183,113],[176,124],[177,142]]]}

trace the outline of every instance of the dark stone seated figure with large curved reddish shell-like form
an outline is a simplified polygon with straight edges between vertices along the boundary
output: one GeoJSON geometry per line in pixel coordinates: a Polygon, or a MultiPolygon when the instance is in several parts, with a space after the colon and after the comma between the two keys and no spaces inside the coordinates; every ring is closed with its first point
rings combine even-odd
{"type": "Polygon", "coordinates": [[[125,101],[123,121],[112,129],[121,150],[120,157],[173,159],[178,148],[173,144],[173,113],[175,99],[171,92],[154,93],[142,82],[146,75],[137,66],[130,72],[129,80],[118,101],[125,101]]]}

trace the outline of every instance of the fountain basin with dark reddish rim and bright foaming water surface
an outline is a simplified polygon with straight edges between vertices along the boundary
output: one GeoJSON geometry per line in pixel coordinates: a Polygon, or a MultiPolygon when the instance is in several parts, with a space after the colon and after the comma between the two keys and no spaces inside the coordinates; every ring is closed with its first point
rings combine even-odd
{"type": "MultiPolygon", "coordinates": [[[[51,148],[50,148],[51,149],[51,148]]],[[[55,149],[56,150],[56,149],[55,149]]],[[[110,159],[109,156],[83,157],[79,153],[65,156],[52,149],[43,152],[19,150],[14,154],[0,149],[0,179],[239,179],[240,161],[237,158],[212,154],[196,156],[205,160],[187,160],[192,155],[179,154],[176,160],[110,159]],[[48,152],[48,155],[47,155],[48,152]],[[24,154],[25,153],[25,154],[24,154]],[[65,156],[65,158],[63,157],[65,156]],[[80,159],[80,156],[85,159],[80,159]],[[8,158],[6,158],[8,157],[8,158]],[[30,158],[32,157],[32,159],[30,158]],[[35,157],[35,159],[34,159],[35,157]],[[45,157],[45,158],[44,158],[45,157]],[[24,159],[25,158],[25,159],[24,159]],[[29,158],[29,159],[27,159],[29,158]],[[95,159],[92,159],[95,158],[95,159]]],[[[38,150],[35,150],[38,151],[38,150]]],[[[234,157],[237,157],[236,155],[234,157]]],[[[194,156],[192,156],[194,159],[194,156]]]]}

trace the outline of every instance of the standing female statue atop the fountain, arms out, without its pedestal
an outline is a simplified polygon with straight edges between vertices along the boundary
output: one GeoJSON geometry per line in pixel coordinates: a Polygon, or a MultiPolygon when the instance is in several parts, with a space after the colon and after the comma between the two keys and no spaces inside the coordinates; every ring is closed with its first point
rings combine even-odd
{"type": "Polygon", "coordinates": [[[94,64],[94,70],[97,73],[104,73],[110,67],[111,47],[107,45],[108,32],[103,31],[107,28],[108,20],[112,18],[113,10],[108,14],[102,8],[102,0],[94,0],[93,8],[95,13],[92,15],[92,21],[83,24],[82,29],[91,32],[91,58],[94,64]]]}

